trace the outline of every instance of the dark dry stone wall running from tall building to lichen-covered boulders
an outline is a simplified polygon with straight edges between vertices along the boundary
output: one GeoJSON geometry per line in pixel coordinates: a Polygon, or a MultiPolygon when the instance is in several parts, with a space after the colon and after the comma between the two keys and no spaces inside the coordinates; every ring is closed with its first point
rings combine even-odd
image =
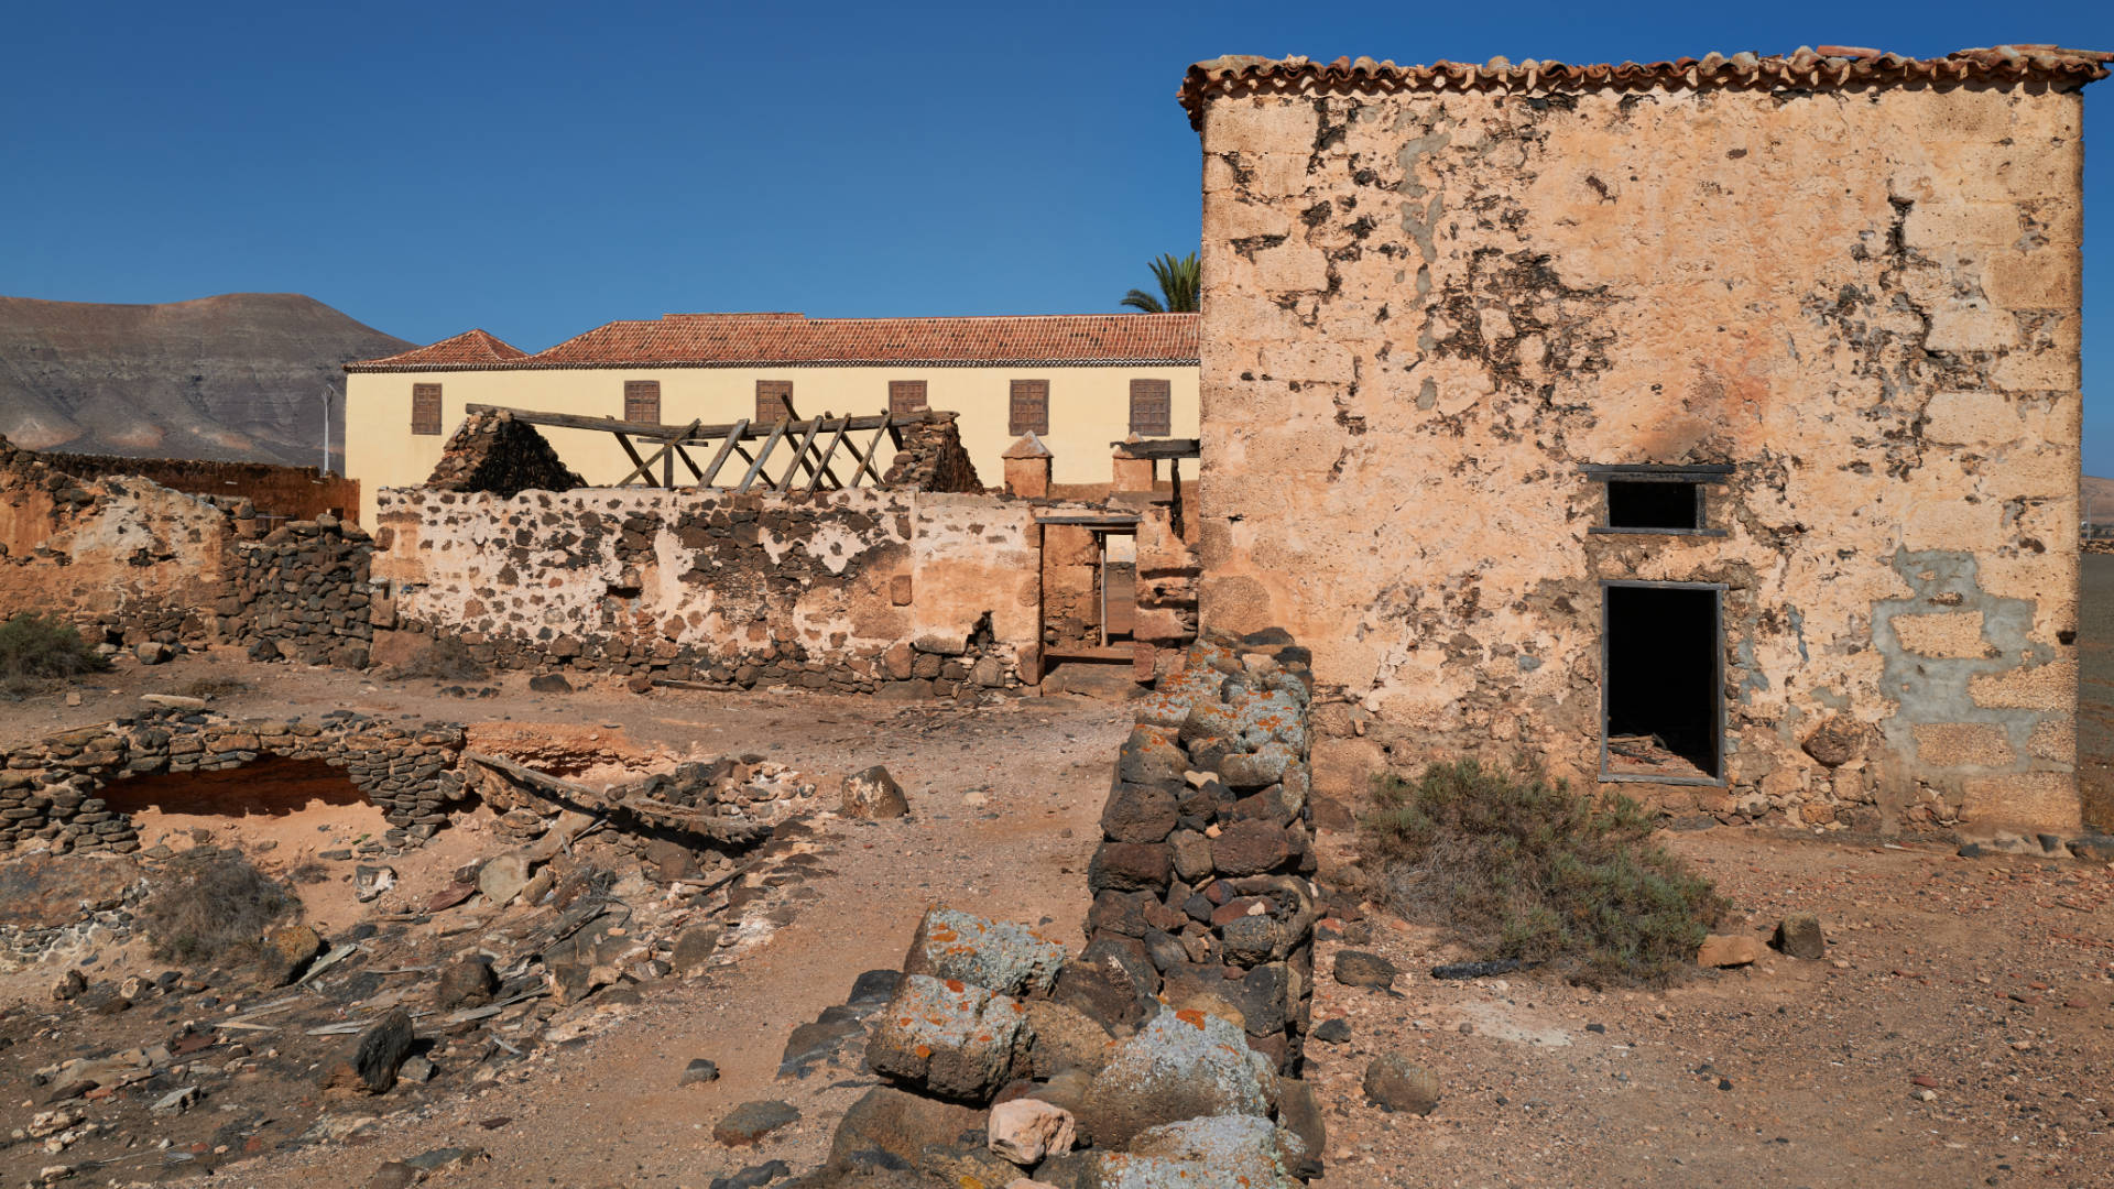
{"type": "Polygon", "coordinates": [[[1230,1005],[1247,1045],[1296,1073],[1319,920],[1306,652],[1279,630],[1209,637],[1139,702],[1101,810],[1087,948],[1057,999],[1133,1018],[1230,1005]]]}

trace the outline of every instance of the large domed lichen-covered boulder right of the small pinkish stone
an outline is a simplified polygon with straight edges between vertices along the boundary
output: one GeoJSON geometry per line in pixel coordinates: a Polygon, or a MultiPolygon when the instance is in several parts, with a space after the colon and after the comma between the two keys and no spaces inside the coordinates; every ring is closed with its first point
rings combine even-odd
{"type": "Polygon", "coordinates": [[[1277,1071],[1239,1026],[1203,1011],[1161,1011],[1120,1041],[1095,1075],[1080,1113],[1099,1147],[1209,1115],[1268,1115],[1277,1071]]]}

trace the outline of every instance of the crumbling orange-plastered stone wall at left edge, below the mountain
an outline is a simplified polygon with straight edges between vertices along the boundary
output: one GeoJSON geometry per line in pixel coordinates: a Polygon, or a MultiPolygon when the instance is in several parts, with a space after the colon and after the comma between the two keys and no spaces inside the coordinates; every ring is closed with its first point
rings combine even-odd
{"type": "Polygon", "coordinates": [[[273,525],[247,499],[82,480],[0,440],[0,618],[53,611],[91,643],[235,643],[364,669],[370,552],[328,512],[273,525]]]}

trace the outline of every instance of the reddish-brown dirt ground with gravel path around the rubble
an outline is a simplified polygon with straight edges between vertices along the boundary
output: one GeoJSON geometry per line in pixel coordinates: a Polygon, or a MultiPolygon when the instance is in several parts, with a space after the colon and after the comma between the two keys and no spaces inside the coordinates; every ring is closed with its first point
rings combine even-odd
{"type": "MultiPolygon", "coordinates": [[[[2084,639],[2095,639],[2091,628],[2084,639]]],[[[2093,671],[2087,660],[2089,696],[2093,671]]],[[[2110,671],[2101,677],[2114,683],[2110,671]]],[[[643,994],[602,992],[609,1020],[592,1037],[531,1049],[486,1081],[442,1068],[419,1094],[353,1106],[285,1090],[298,1094],[288,1115],[321,1111],[338,1130],[374,1121],[334,1142],[275,1138],[254,1155],[230,1151],[209,1176],[167,1164],[152,1130],[140,1130],[123,1136],[131,1147],[116,1164],[82,1170],[76,1181],[87,1185],[359,1187],[383,1161],[448,1147],[476,1147],[488,1159],[435,1185],[706,1189],[715,1176],[769,1159],[805,1170],[827,1151],[843,1106],[875,1081],[858,1066],[856,1039],[808,1075],[780,1077],[793,1030],[843,1003],[860,971],[896,967],[934,901],[1078,937],[1095,821],[1129,721],[1120,705],[1072,696],[966,709],[810,694],[636,698],[528,694],[520,677],[465,700],[431,681],[387,685],[218,656],[99,679],[108,690],[85,690],[80,707],[59,696],[19,702],[0,715],[0,743],[106,721],[137,707],[142,692],[182,692],[207,675],[249,683],[214,707],[237,715],[357,707],[531,724],[524,730],[558,724],[638,747],[761,753],[822,789],[886,764],[913,812],[888,823],[827,819],[774,931],[704,977],[660,980],[643,994]],[[693,1058],[717,1062],[719,1079],[679,1085],[693,1058]],[[799,1123],[759,1147],[715,1142],[712,1126],[757,1098],[791,1102],[799,1123]]],[[[317,848],[361,827],[357,812],[304,804],[262,825],[277,831],[275,853],[317,848]],[[315,831],[302,817],[311,812],[332,831],[315,831]]],[[[243,834],[190,817],[154,825],[243,834]]],[[[480,829],[442,831],[431,865],[486,846],[480,829]]],[[[1323,846],[1345,842],[1323,838],[1323,846]]],[[[1391,994],[1328,975],[1351,941],[1323,941],[1315,963],[1315,1022],[1342,1018],[1351,1028],[1349,1041],[1309,1047],[1330,1126],[1321,1185],[2114,1185],[2114,1087],[2106,1081],[2114,870],[1765,829],[1674,834],[1670,844],[1736,903],[1729,931],[1767,935],[1784,912],[1816,912],[1829,956],[1807,963],[1772,952],[1755,967],[1704,973],[1659,994],[1579,990],[1535,973],[1438,982],[1431,965],[1461,954],[1372,914],[1349,927],[1351,941],[1404,969],[1391,994]],[[1359,1079],[1380,1051],[1406,1051],[1440,1073],[1444,1100],[1431,1117],[1385,1115],[1364,1102],[1359,1079]]],[[[328,895],[317,910],[334,927],[349,925],[359,906],[340,891],[328,895]]],[[[120,961],[108,954],[97,969],[120,961]]],[[[6,980],[0,994],[17,1011],[51,1011],[53,973],[6,980]]],[[[156,1039],[165,1037],[133,1043],[156,1039]]],[[[0,1047],[0,1085],[17,1085],[30,1066],[21,1045],[0,1047]]],[[[216,1109],[211,1100],[201,1106],[216,1109]]],[[[38,1109],[30,1094],[0,1100],[0,1136],[38,1109]]],[[[0,1147],[0,1181],[23,1183],[61,1159],[72,1157],[0,1147]]]]}

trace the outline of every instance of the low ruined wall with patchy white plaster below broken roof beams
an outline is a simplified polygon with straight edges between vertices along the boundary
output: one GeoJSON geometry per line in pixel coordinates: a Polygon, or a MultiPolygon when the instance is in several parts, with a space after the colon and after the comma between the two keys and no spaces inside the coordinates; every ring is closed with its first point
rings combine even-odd
{"type": "Polygon", "coordinates": [[[499,664],[949,696],[1017,683],[1034,531],[922,491],[391,489],[374,573],[400,626],[499,664]]]}

